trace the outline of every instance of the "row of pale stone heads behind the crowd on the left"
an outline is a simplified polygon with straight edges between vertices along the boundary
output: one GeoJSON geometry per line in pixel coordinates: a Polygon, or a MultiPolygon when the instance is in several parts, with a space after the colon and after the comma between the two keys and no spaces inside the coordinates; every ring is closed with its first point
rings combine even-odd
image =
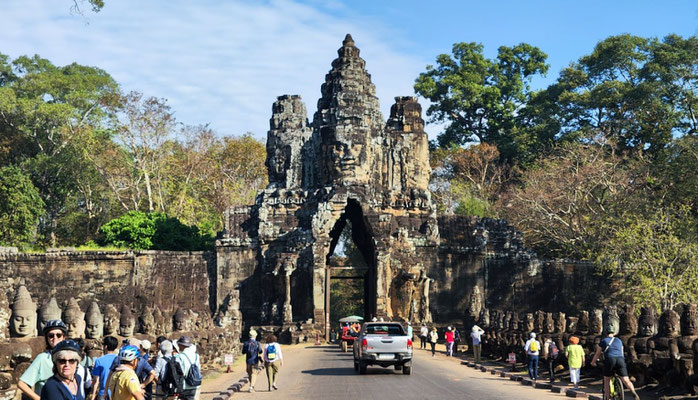
{"type": "Polygon", "coordinates": [[[131,337],[134,333],[146,335],[164,335],[174,331],[199,330],[198,314],[192,310],[178,308],[170,317],[159,307],[145,307],[136,316],[127,305],[120,310],[113,304],[100,310],[96,301],[90,303],[83,312],[75,298],[70,298],[63,310],[55,297],[51,297],[37,310],[37,305],[24,285],[20,285],[11,304],[9,321],[10,337],[35,337],[46,322],[62,319],[68,327],[68,337],[99,339],[107,335],[131,337]],[[38,312],[37,312],[38,311],[38,312]]]}

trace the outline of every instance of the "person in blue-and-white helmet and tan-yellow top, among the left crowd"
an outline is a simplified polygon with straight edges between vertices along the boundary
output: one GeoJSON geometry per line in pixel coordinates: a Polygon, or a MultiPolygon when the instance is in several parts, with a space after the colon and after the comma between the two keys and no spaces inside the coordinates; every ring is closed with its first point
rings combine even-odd
{"type": "Polygon", "coordinates": [[[145,394],[136,375],[140,351],[134,345],[126,345],[119,350],[119,366],[110,375],[107,392],[111,400],[144,400],[145,394]]]}

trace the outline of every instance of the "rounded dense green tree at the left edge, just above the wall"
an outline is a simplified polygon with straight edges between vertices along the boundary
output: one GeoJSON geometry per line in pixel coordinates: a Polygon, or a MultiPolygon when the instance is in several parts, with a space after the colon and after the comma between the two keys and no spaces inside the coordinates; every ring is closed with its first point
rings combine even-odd
{"type": "Polygon", "coordinates": [[[27,175],[17,167],[0,168],[0,245],[20,246],[33,241],[43,206],[27,175]]]}

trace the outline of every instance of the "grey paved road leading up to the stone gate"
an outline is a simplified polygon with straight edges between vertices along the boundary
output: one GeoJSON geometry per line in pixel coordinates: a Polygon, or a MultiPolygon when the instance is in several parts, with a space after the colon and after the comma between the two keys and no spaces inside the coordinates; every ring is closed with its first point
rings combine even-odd
{"type": "MultiPolygon", "coordinates": [[[[267,392],[264,372],[256,393],[236,393],[233,398],[269,399],[546,399],[562,398],[547,390],[524,387],[508,379],[475,371],[460,360],[442,355],[432,359],[417,350],[412,375],[392,368],[369,367],[367,375],[354,371],[351,353],[336,346],[284,347],[284,366],[277,382],[278,391],[267,392]]],[[[247,388],[247,387],[246,387],[247,388]]],[[[245,389],[246,389],[245,388],[245,389]]]]}

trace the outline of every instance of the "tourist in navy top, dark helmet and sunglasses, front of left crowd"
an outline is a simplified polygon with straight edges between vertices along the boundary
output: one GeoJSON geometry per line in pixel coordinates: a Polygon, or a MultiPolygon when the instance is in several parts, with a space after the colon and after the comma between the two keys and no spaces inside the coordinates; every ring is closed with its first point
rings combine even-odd
{"type": "Polygon", "coordinates": [[[44,400],[85,400],[81,390],[83,380],[77,374],[80,346],[73,340],[63,340],[51,350],[53,376],[41,389],[44,400]]]}

